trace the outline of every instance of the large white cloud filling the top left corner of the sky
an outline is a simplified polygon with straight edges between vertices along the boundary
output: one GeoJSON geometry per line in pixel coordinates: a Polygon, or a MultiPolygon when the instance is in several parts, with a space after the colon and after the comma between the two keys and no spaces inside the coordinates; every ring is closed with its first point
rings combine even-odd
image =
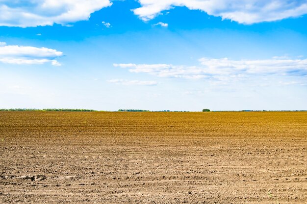
{"type": "Polygon", "coordinates": [[[1,0],[0,26],[67,25],[110,5],[110,0],[1,0]]]}

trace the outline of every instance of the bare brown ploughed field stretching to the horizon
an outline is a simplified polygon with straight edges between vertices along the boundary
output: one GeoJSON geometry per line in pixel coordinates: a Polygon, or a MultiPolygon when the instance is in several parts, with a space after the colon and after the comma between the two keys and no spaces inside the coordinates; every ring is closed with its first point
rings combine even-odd
{"type": "Polygon", "coordinates": [[[0,112],[0,203],[307,203],[307,112],[0,112]]]}

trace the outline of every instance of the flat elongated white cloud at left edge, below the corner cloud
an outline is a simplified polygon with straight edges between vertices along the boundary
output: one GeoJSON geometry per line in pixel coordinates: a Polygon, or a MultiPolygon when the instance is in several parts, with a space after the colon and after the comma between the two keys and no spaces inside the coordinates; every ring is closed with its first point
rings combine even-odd
{"type": "Polygon", "coordinates": [[[17,65],[51,63],[53,66],[61,65],[55,59],[63,56],[63,53],[55,49],[2,44],[0,46],[0,62],[2,63],[17,65]]]}

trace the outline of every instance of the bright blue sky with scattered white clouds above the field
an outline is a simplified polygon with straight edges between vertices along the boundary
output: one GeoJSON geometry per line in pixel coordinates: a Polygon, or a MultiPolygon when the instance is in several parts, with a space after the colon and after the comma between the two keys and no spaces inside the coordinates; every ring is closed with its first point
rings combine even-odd
{"type": "Polygon", "coordinates": [[[0,0],[0,109],[307,110],[307,0],[0,0]]]}

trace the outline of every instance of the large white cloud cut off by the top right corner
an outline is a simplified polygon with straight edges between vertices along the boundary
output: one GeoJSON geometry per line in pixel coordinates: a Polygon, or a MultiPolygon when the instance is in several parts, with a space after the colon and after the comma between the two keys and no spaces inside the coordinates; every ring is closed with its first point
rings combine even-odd
{"type": "Polygon", "coordinates": [[[135,15],[149,21],[175,6],[186,6],[209,15],[230,19],[238,23],[277,21],[307,14],[306,0],[139,0],[141,7],[133,9],[135,15]]]}

